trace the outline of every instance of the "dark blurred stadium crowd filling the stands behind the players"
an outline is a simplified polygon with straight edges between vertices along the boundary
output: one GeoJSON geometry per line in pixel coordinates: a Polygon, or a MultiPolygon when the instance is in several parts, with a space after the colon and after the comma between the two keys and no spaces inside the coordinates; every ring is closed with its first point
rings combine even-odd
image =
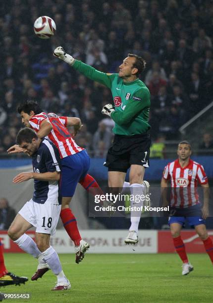
{"type": "Polygon", "coordinates": [[[178,128],[212,101],[213,1],[7,0],[0,12],[0,152],[20,128],[18,103],[38,101],[44,111],[77,116],[77,143],[104,157],[113,121],[101,115],[110,91],[53,57],[55,47],[104,72],[117,72],[128,52],[144,57],[141,80],[152,95],[152,137],[178,139],[178,128]],[[48,15],[56,35],[33,33],[48,15]]]}

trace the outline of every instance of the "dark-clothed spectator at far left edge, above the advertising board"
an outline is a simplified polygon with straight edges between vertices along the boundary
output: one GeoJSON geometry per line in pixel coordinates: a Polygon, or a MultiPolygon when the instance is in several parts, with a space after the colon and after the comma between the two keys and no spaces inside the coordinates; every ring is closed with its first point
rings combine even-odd
{"type": "Polygon", "coordinates": [[[16,216],[5,198],[0,198],[0,230],[7,230],[16,216]]]}

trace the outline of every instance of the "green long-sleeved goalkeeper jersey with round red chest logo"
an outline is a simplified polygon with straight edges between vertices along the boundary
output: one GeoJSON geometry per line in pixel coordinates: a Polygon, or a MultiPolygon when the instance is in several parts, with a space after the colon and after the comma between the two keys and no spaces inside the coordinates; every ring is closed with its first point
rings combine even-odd
{"type": "Polygon", "coordinates": [[[111,113],[115,122],[114,134],[133,136],[144,134],[150,129],[150,91],[141,80],[123,82],[118,74],[100,72],[78,60],[75,60],[73,67],[111,90],[115,105],[115,111],[111,113]]]}

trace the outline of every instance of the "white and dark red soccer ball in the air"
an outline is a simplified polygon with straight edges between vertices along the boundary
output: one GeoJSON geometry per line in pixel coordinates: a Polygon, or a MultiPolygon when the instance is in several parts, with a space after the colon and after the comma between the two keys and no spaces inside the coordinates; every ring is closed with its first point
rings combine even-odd
{"type": "Polygon", "coordinates": [[[56,31],[56,25],[52,18],[41,16],[34,23],[34,32],[41,39],[51,38],[56,31]]]}

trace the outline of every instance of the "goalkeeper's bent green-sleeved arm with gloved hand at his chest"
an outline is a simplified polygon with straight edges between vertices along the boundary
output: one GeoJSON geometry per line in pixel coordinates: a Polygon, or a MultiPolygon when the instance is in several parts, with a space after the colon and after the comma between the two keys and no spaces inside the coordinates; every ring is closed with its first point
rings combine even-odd
{"type": "MultiPolygon", "coordinates": [[[[109,105],[109,104],[107,104],[109,105]]],[[[111,108],[109,113],[105,112],[105,105],[102,113],[107,114],[118,125],[130,123],[146,107],[150,107],[150,93],[147,90],[140,90],[131,97],[123,111],[116,111],[111,108]]]]}

